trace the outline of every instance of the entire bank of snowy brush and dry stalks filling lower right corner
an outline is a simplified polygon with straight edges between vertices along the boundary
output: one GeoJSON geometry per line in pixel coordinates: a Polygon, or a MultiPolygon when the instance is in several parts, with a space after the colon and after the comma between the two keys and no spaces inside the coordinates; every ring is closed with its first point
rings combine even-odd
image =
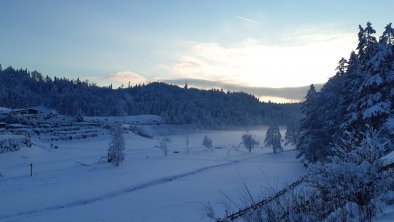
{"type": "Polygon", "coordinates": [[[310,165],[300,187],[274,194],[271,201],[244,214],[243,220],[371,221],[385,202],[393,200],[386,193],[393,189],[394,174],[383,170],[381,160],[388,143],[376,133],[367,133],[359,143],[349,139],[335,148],[328,162],[310,165]]]}

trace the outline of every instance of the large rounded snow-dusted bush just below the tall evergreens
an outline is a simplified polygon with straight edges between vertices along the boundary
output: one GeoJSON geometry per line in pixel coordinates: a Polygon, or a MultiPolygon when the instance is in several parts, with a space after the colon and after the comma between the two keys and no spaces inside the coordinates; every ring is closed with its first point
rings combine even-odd
{"type": "Polygon", "coordinates": [[[362,220],[370,221],[379,210],[379,199],[388,192],[393,181],[393,172],[382,170],[380,158],[386,143],[368,133],[360,145],[352,141],[348,144],[352,147],[337,147],[336,156],[330,157],[330,162],[313,164],[307,183],[320,192],[322,200],[332,208],[330,212],[337,212],[331,218],[353,213],[347,209],[353,209],[350,206],[356,204],[362,220]]]}

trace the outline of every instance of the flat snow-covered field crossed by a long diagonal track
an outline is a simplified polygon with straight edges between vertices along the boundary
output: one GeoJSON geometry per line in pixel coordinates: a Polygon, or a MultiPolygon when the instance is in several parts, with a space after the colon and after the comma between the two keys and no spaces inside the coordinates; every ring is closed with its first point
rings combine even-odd
{"type": "Polygon", "coordinates": [[[56,141],[57,149],[33,137],[32,148],[0,154],[0,221],[209,221],[204,205],[222,216],[225,196],[238,201],[244,185],[258,199],[305,173],[295,151],[263,148],[265,127],[250,130],[260,141],[252,153],[240,146],[245,130],[171,132],[167,157],[158,137],[124,134],[120,167],[99,163],[110,141],[105,130],[95,138],[56,141]],[[202,146],[205,135],[213,151],[202,146]]]}

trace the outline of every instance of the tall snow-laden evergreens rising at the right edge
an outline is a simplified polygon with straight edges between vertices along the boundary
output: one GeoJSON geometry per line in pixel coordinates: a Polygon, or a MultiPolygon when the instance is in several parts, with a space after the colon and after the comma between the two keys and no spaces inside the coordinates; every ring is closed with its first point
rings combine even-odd
{"type": "Polygon", "coordinates": [[[394,30],[387,25],[377,41],[370,22],[359,29],[357,52],[302,104],[297,148],[307,161],[325,160],[338,141],[361,141],[369,129],[394,144],[394,30]]]}

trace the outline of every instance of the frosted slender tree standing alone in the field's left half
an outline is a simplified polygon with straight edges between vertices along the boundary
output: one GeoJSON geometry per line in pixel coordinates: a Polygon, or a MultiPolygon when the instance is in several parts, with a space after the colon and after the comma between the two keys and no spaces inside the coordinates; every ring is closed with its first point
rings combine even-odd
{"type": "Polygon", "coordinates": [[[123,138],[122,126],[116,124],[112,128],[112,139],[109,143],[107,160],[114,166],[119,166],[125,156],[125,141],[123,138]]]}

